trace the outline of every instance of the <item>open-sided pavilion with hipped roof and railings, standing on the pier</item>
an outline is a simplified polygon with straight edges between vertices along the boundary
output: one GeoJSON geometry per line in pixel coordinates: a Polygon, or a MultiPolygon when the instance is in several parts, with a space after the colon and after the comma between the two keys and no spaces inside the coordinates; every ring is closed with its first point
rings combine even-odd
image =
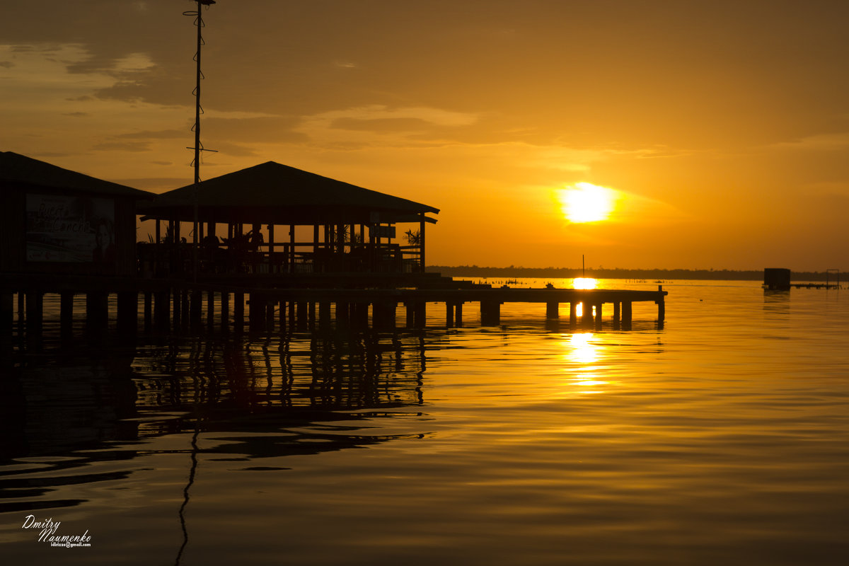
{"type": "Polygon", "coordinates": [[[155,237],[140,256],[143,270],[160,275],[424,272],[425,227],[438,212],[268,161],[144,205],[155,237]],[[180,228],[195,219],[197,260],[194,234],[180,228]]]}

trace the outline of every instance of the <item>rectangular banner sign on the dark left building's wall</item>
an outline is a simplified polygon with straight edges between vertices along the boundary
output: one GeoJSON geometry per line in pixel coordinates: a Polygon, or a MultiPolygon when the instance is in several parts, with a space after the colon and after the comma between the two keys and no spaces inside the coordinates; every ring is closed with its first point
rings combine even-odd
{"type": "Polygon", "coordinates": [[[114,262],[115,200],[27,194],[26,261],[114,262]]]}

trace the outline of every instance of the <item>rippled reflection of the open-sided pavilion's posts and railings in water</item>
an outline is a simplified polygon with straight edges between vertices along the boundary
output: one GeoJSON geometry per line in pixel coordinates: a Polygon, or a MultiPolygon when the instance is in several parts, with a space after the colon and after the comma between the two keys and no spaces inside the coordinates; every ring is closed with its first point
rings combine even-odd
{"type": "MultiPolygon", "coordinates": [[[[138,410],[222,412],[273,407],[356,410],[420,405],[421,334],[313,333],[263,342],[186,339],[140,350],[138,410]]],[[[147,423],[151,427],[177,423],[147,423]]]]}

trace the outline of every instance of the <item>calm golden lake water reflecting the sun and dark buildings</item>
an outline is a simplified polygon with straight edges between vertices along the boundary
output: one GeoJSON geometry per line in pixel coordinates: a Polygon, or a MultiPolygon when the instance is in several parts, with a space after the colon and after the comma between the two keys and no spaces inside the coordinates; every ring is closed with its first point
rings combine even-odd
{"type": "Polygon", "coordinates": [[[46,345],[0,370],[0,559],[849,563],[849,290],[664,289],[663,328],[429,305],[420,331],[46,345]]]}

